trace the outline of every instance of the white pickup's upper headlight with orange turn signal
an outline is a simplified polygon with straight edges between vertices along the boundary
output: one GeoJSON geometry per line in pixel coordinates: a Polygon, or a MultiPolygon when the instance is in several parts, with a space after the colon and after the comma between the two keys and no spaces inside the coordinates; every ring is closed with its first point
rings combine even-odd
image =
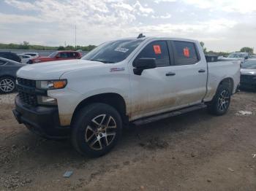
{"type": "Polygon", "coordinates": [[[50,80],[50,81],[37,81],[37,88],[43,90],[55,90],[55,89],[62,89],[66,87],[67,80],[50,80]]]}

